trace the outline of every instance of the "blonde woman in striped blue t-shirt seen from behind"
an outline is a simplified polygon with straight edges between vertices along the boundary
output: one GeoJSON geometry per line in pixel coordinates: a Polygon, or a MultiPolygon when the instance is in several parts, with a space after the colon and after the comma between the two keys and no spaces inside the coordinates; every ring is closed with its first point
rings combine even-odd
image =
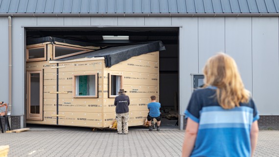
{"type": "Polygon", "coordinates": [[[235,61],[224,53],[208,59],[205,85],[186,109],[183,157],[252,157],[259,118],[235,61]]]}

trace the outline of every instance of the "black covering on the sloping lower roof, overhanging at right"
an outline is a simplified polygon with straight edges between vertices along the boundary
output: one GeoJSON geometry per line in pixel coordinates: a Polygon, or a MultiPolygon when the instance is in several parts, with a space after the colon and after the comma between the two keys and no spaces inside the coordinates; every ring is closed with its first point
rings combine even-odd
{"type": "Polygon", "coordinates": [[[70,56],[62,59],[56,59],[60,61],[71,60],[71,59],[81,59],[81,58],[94,58],[94,57],[104,57],[106,62],[106,67],[111,67],[121,61],[130,59],[134,56],[140,56],[142,54],[147,54],[155,51],[165,50],[162,41],[151,41],[151,42],[140,42],[125,46],[115,46],[99,49],[92,52],[87,52],[84,54],[79,54],[75,56],[70,56]]]}

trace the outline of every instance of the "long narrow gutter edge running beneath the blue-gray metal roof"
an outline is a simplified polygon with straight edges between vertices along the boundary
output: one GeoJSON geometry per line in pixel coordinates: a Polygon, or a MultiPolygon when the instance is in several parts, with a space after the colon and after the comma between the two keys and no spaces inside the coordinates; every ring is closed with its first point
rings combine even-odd
{"type": "Polygon", "coordinates": [[[169,14],[156,14],[156,13],[134,13],[134,14],[108,14],[108,13],[97,13],[97,14],[77,14],[77,13],[60,13],[60,14],[49,14],[49,13],[0,13],[0,17],[12,16],[12,17],[64,17],[64,16],[74,16],[74,17],[279,17],[279,13],[169,13],[169,14]]]}

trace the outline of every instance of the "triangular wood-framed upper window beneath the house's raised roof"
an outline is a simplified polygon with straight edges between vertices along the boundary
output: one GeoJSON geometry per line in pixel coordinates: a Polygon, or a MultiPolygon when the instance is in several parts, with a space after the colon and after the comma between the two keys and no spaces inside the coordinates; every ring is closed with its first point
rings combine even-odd
{"type": "Polygon", "coordinates": [[[61,59],[77,54],[86,53],[89,51],[92,50],[64,45],[53,45],[54,59],[61,59]]]}

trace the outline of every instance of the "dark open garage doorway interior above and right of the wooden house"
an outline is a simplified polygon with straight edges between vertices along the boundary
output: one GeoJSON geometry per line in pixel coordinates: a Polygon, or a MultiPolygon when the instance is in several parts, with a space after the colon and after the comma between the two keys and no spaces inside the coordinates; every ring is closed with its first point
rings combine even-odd
{"type": "Polygon", "coordinates": [[[178,70],[179,28],[173,27],[91,27],[91,28],[26,28],[26,39],[56,37],[85,41],[101,46],[161,40],[166,50],[159,54],[159,93],[162,128],[178,129],[179,70],[178,70]]]}

